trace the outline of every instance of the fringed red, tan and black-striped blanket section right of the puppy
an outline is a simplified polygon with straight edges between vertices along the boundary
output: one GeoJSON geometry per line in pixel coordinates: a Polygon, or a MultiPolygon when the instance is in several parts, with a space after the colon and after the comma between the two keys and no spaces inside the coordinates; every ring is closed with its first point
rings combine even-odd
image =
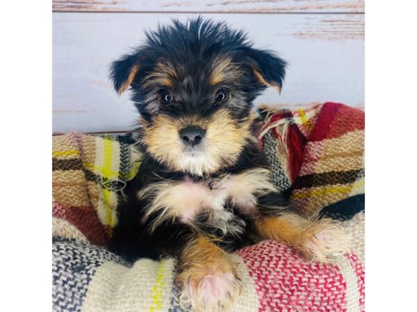
{"type": "MultiPolygon", "coordinates": [[[[302,214],[317,216],[328,205],[364,193],[362,110],[324,103],[294,111],[263,107],[261,114],[272,182],[302,214]]],[[[356,204],[363,206],[361,197],[356,204]]],[[[332,214],[349,207],[335,206],[332,214]]]]}

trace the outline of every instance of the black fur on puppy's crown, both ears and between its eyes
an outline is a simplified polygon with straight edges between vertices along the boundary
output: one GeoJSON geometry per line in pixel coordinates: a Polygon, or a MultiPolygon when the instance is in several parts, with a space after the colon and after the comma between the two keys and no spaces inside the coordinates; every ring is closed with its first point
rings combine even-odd
{"type": "Polygon", "coordinates": [[[213,90],[207,85],[211,64],[216,55],[230,55],[245,72],[239,80],[228,81],[226,85],[242,92],[244,96],[245,107],[232,111],[236,117],[247,116],[256,96],[267,87],[256,79],[254,68],[259,70],[267,82],[281,86],[284,81],[284,60],[270,51],[254,49],[243,31],[234,31],[224,22],[215,23],[198,17],[183,24],[174,19],[170,26],[158,26],[157,31],[148,31],[146,38],[142,46],[113,62],[111,79],[115,89],[119,89],[128,78],[132,67],[138,64],[140,71],[131,83],[132,101],[147,121],[152,121],[152,112],[149,112],[149,103],[145,98],[152,89],[140,86],[143,78],[154,71],[157,60],[170,60],[175,64],[181,78],[192,77],[175,86],[178,101],[183,105],[163,107],[165,113],[173,116],[188,114],[193,109],[206,116],[215,110],[215,106],[204,104],[211,103],[213,98],[213,90]]]}

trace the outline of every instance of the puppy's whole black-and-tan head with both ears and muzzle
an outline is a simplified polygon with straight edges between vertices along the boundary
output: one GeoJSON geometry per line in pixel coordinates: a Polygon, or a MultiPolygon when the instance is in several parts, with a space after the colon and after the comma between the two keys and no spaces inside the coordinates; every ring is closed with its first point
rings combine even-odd
{"type": "Polygon", "coordinates": [[[252,139],[252,101],[281,89],[286,62],[254,49],[242,31],[201,18],[159,27],[113,62],[120,94],[129,87],[146,153],[193,175],[232,166],[252,139]]]}

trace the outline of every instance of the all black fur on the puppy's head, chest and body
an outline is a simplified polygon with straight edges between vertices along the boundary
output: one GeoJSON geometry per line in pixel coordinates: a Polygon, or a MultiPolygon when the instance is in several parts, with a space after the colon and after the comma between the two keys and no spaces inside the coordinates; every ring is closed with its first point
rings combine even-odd
{"type": "MultiPolygon", "coordinates": [[[[227,110],[236,125],[244,125],[252,109],[252,103],[267,85],[281,87],[285,75],[286,62],[269,51],[254,49],[242,31],[231,30],[224,23],[197,18],[183,24],[172,21],[170,26],[160,26],[157,31],[149,31],[147,40],[138,49],[134,49],[120,60],[113,62],[111,78],[115,89],[120,91],[134,67],[137,73],[129,82],[132,100],[140,112],[142,121],[148,126],[155,125],[156,116],[163,115],[169,119],[180,119],[190,114],[209,118],[218,110],[227,110]],[[236,79],[226,79],[219,85],[211,85],[211,73],[218,57],[227,57],[238,66],[240,74],[236,79]],[[148,83],[149,75],[158,71],[158,62],[169,62],[174,67],[176,77],[172,87],[160,85],[156,79],[148,83]],[[254,70],[263,77],[259,80],[254,70]],[[219,88],[227,89],[227,103],[216,101],[219,88]],[[161,102],[161,95],[172,96],[172,103],[161,102]]],[[[130,77],[131,78],[131,77],[130,77]]],[[[254,131],[254,125],[251,127],[254,131]]],[[[195,174],[187,170],[177,170],[169,162],[158,159],[149,152],[149,143],[144,140],[145,130],[138,130],[138,148],[144,158],[138,175],[125,189],[126,202],[119,211],[119,224],[110,249],[123,254],[129,259],[138,257],[157,258],[161,254],[177,255],[188,240],[198,232],[210,237],[226,250],[240,248],[248,242],[252,231],[252,216],[242,214],[239,209],[226,202],[224,209],[234,213],[231,222],[243,224],[243,233],[229,235],[206,222],[206,216],[197,216],[195,227],[190,227],[179,220],[167,220],[161,223],[154,232],[149,225],[158,217],[158,213],[146,221],[143,220],[147,200],[140,200],[137,193],[140,189],[157,182],[172,182],[191,179],[195,182],[210,182],[224,174],[237,174],[250,168],[268,168],[265,157],[253,140],[244,142],[243,148],[233,164],[220,166],[215,172],[195,174]],[[196,229],[197,227],[197,229],[196,229]]],[[[180,157],[180,156],[179,156],[180,157]]],[[[277,215],[286,211],[288,203],[277,192],[257,198],[258,214],[277,215]]]]}

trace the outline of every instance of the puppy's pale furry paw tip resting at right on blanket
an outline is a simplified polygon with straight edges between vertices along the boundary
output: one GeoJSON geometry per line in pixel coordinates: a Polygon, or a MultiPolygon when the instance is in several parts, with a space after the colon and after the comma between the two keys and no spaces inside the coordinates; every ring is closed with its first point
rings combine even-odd
{"type": "Polygon", "coordinates": [[[350,250],[352,235],[338,221],[322,219],[305,230],[301,252],[313,261],[332,262],[350,250]]]}

